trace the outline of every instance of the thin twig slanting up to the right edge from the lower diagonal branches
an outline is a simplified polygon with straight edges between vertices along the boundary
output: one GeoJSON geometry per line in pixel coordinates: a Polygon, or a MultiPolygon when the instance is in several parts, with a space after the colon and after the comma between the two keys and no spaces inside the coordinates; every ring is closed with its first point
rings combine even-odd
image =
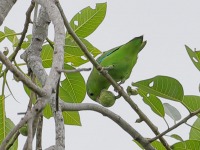
{"type": "Polygon", "coordinates": [[[182,125],[183,123],[186,123],[188,121],[188,119],[192,118],[193,116],[197,115],[198,113],[200,113],[200,109],[198,109],[198,110],[196,110],[194,112],[191,112],[188,116],[186,116],[185,118],[183,118],[177,124],[173,125],[172,127],[170,127],[169,129],[165,130],[164,132],[162,132],[161,134],[157,135],[156,137],[150,139],[149,142],[153,142],[153,141],[159,139],[160,137],[162,137],[163,135],[165,135],[168,132],[172,131],[173,129],[177,128],[178,126],[182,125]]]}

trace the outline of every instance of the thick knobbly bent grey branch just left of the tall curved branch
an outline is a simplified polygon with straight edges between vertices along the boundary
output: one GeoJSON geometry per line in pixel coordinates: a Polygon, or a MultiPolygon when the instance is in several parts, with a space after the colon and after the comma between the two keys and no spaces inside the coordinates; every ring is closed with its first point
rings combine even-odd
{"type": "Polygon", "coordinates": [[[39,79],[42,86],[45,85],[48,75],[42,66],[40,54],[42,45],[48,34],[50,22],[51,20],[49,19],[45,8],[41,7],[38,18],[33,24],[31,44],[20,56],[27,63],[28,68],[30,68],[39,79]]]}

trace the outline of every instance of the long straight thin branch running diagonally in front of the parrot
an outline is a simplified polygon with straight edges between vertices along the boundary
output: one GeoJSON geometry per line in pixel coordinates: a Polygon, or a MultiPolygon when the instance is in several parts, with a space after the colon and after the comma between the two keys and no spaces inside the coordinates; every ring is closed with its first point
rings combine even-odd
{"type": "MultiPolygon", "coordinates": [[[[111,85],[118,91],[118,93],[123,96],[123,98],[128,102],[128,104],[135,110],[135,112],[140,116],[142,120],[146,122],[146,124],[151,128],[151,130],[156,134],[159,135],[160,132],[158,131],[158,128],[147,118],[147,116],[138,108],[138,106],[132,101],[130,96],[115,82],[115,80],[108,74],[106,70],[103,70],[102,67],[95,61],[95,59],[92,57],[92,55],[87,50],[87,47],[82,43],[82,41],[79,39],[79,37],[76,35],[76,33],[71,28],[63,9],[59,3],[59,1],[56,1],[56,5],[58,9],[60,10],[60,13],[63,17],[65,27],[67,28],[68,33],[72,36],[74,41],[77,43],[77,45],[81,48],[85,56],[90,60],[90,62],[93,64],[93,66],[100,72],[101,74],[111,83],[111,85]]],[[[169,144],[167,141],[163,138],[159,138],[162,144],[165,146],[167,150],[171,150],[169,144]]]]}

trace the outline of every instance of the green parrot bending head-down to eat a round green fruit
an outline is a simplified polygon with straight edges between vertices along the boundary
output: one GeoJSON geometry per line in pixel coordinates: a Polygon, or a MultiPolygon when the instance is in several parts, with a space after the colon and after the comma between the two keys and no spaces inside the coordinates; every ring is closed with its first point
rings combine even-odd
{"type": "MultiPolygon", "coordinates": [[[[134,65],[137,62],[138,53],[144,48],[146,41],[143,41],[143,36],[133,38],[128,43],[113,48],[104,52],[97,62],[102,67],[110,67],[108,73],[112,78],[120,83],[124,83],[130,76],[134,65]]],[[[110,83],[99,73],[96,68],[93,68],[87,80],[87,94],[97,101],[103,89],[108,89],[110,83]]]]}

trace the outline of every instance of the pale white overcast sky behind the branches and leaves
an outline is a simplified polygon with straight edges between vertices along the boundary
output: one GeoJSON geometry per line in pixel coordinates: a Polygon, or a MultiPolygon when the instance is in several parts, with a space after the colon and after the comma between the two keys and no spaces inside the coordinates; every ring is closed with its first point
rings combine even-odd
{"type": "MultiPolygon", "coordinates": [[[[66,16],[70,20],[79,10],[103,0],[63,0],[61,1],[66,16]]],[[[25,11],[30,1],[18,1],[10,14],[7,16],[4,26],[21,32],[23,29],[25,11]]],[[[107,14],[99,28],[87,39],[102,51],[126,43],[135,36],[144,35],[148,41],[146,47],[139,55],[138,62],[133,69],[132,75],[126,81],[127,85],[131,82],[147,79],[156,75],[167,75],[178,79],[187,95],[199,95],[198,84],[200,76],[194,67],[184,48],[187,44],[191,48],[200,49],[200,1],[199,0],[123,0],[108,1],[107,14]]],[[[29,32],[31,33],[31,32],[29,32]]],[[[53,32],[49,33],[53,37],[53,32]]],[[[7,46],[6,42],[1,43],[0,47],[7,46]]],[[[87,64],[91,67],[91,64],[87,64]]],[[[87,79],[89,73],[84,73],[87,79]]],[[[10,79],[12,76],[10,75],[10,79]]],[[[28,102],[23,89],[15,81],[9,80],[13,93],[20,103],[12,97],[6,99],[6,114],[15,123],[18,123],[21,116],[17,112],[26,110],[28,102]]],[[[166,129],[164,121],[154,115],[150,108],[146,106],[139,96],[133,97],[148,117],[159,126],[159,130],[166,129]]],[[[86,97],[84,102],[92,102],[86,97]]],[[[166,102],[166,100],[163,100],[166,102]]],[[[187,115],[186,109],[175,102],[170,103],[176,106],[181,114],[187,115]]],[[[154,135],[144,124],[135,124],[138,118],[136,113],[131,110],[122,99],[117,101],[111,108],[114,112],[121,115],[133,127],[145,137],[154,135]]],[[[66,126],[66,149],[70,150],[137,150],[138,147],[132,142],[132,138],[125,133],[118,125],[106,117],[94,112],[81,112],[82,127],[66,126]]],[[[166,117],[169,124],[173,122],[166,117]]],[[[192,123],[191,119],[189,123],[192,123]]],[[[43,133],[43,148],[54,143],[54,120],[45,120],[43,133]]],[[[182,125],[173,133],[180,134],[184,139],[188,138],[189,128],[182,125]]],[[[172,133],[172,132],[171,132],[172,133]]],[[[170,133],[170,134],[171,134],[170,133]]],[[[24,139],[20,137],[19,149],[22,149],[24,139]],[[23,142],[21,141],[23,140],[23,142]]],[[[169,140],[172,144],[175,140],[169,140]]]]}

